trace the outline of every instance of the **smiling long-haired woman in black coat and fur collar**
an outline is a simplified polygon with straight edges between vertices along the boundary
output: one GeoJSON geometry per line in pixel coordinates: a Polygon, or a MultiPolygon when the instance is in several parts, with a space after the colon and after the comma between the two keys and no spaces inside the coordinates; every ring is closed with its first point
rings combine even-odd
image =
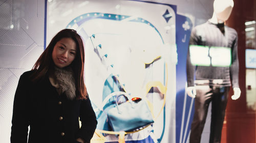
{"type": "Polygon", "coordinates": [[[13,104],[12,143],[90,142],[97,120],[83,68],[81,37],[70,29],[57,33],[33,69],[20,76],[13,104]]]}

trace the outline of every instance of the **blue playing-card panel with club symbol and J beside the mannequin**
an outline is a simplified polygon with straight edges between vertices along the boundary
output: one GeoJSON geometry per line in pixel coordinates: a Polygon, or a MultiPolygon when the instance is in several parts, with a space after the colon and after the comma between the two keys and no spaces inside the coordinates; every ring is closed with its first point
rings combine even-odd
{"type": "Polygon", "coordinates": [[[178,63],[176,65],[176,142],[186,142],[190,124],[193,119],[194,105],[191,98],[185,95],[186,56],[192,24],[189,18],[176,16],[176,44],[178,63]],[[185,97],[187,96],[187,97],[185,97]],[[189,116],[190,110],[190,116],[189,116]],[[189,116],[189,117],[188,117],[189,116]],[[188,123],[187,123],[188,122],[188,123]]]}

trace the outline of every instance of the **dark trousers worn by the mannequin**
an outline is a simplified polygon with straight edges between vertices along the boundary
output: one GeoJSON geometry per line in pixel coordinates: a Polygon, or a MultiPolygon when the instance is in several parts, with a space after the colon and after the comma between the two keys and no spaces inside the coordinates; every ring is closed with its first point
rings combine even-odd
{"type": "Polygon", "coordinates": [[[221,142],[229,88],[217,88],[209,85],[196,86],[197,95],[195,97],[194,119],[191,124],[190,143],[200,143],[210,102],[212,106],[209,143],[221,142]]]}

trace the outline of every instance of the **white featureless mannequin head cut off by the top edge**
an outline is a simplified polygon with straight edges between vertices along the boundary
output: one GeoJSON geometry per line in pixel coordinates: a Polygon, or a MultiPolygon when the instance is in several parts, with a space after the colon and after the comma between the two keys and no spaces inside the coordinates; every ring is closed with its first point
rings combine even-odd
{"type": "Polygon", "coordinates": [[[214,14],[210,21],[212,23],[223,23],[231,14],[234,2],[232,0],[215,0],[214,14]]]}

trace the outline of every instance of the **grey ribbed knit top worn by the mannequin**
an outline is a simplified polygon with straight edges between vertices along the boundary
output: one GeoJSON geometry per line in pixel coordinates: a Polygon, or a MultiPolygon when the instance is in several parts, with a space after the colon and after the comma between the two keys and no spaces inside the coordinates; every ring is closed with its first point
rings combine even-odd
{"type": "MultiPolygon", "coordinates": [[[[238,34],[233,28],[224,23],[214,24],[209,21],[195,26],[190,35],[187,54],[187,87],[195,85],[194,75],[196,75],[196,81],[208,81],[201,82],[203,84],[219,87],[232,85],[233,88],[239,88],[237,52],[238,34]],[[191,52],[194,52],[194,55],[191,52]],[[200,59],[202,57],[203,59],[200,59]],[[199,61],[201,64],[193,63],[193,61],[199,61]],[[219,65],[216,64],[216,61],[219,61],[219,65]],[[225,62],[230,64],[221,65],[225,62]]],[[[200,84],[200,82],[197,83],[200,84]]]]}

